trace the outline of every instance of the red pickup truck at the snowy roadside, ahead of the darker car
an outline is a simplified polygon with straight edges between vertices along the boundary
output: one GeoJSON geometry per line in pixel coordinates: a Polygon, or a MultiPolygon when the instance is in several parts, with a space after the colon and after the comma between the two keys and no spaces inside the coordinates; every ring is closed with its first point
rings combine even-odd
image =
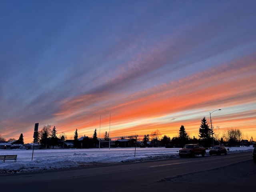
{"type": "Polygon", "coordinates": [[[198,144],[187,144],[179,150],[179,156],[191,156],[202,155],[204,157],[206,150],[204,147],[200,147],[198,144]]]}

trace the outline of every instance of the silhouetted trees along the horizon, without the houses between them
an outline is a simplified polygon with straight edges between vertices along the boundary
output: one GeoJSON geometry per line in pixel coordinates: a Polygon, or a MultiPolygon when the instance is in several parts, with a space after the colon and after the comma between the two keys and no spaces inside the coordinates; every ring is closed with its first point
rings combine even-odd
{"type": "MultiPolygon", "coordinates": [[[[44,125],[42,130],[38,131],[36,134],[36,138],[34,138],[34,142],[40,143],[42,148],[49,148],[52,146],[58,146],[60,147],[62,144],[64,145],[64,141],[67,139],[67,136],[64,132],[61,132],[57,135],[56,127],[54,126],[51,129],[51,125],[47,124],[44,125]]],[[[219,145],[219,144],[226,144],[228,146],[240,146],[241,140],[243,138],[243,133],[239,129],[233,129],[229,128],[226,130],[221,138],[218,138],[217,136],[214,136],[214,130],[210,128],[208,125],[208,121],[206,118],[202,118],[201,124],[198,130],[198,137],[193,136],[192,138],[189,136],[189,134],[186,132],[186,129],[183,125],[180,126],[178,136],[174,136],[172,139],[169,136],[161,136],[160,131],[157,129],[151,134],[145,134],[142,138],[142,144],[144,146],[148,145],[148,142],[151,143],[151,146],[165,146],[165,147],[182,147],[185,144],[188,143],[198,143],[203,145],[206,148],[210,148],[213,144],[219,145]]],[[[138,138],[137,134],[131,135],[131,136],[122,136],[119,139],[136,139],[138,138]]],[[[14,138],[9,139],[8,141],[13,141],[14,138]]],[[[104,134],[104,140],[110,141],[108,132],[105,132],[104,134]]],[[[138,138],[140,141],[140,138],[138,138]]],[[[6,141],[4,138],[0,135],[0,141],[6,141]]],[[[86,137],[84,136],[82,141],[78,140],[78,130],[76,129],[74,132],[73,139],[70,140],[74,143],[75,148],[92,148],[96,147],[96,145],[99,142],[99,139],[97,137],[97,130],[94,130],[94,133],[92,137],[86,137]]],[[[250,139],[251,142],[253,141],[253,138],[250,139]]],[[[24,144],[23,140],[23,134],[20,134],[20,138],[18,139],[18,142],[20,144],[24,144]]],[[[64,147],[64,146],[63,146],[64,147]]]]}

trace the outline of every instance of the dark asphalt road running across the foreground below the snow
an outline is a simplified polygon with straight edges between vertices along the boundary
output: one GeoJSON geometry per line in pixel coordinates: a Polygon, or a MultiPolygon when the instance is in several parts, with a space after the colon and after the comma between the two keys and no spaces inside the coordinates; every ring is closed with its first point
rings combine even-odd
{"type": "Polygon", "coordinates": [[[244,192],[256,189],[251,153],[99,164],[0,175],[0,191],[244,192]]]}

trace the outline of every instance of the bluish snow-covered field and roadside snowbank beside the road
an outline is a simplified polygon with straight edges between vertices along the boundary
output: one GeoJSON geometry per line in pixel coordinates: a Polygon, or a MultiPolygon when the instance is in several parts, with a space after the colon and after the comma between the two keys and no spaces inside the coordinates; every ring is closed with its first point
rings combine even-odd
{"type": "MultiPolygon", "coordinates": [[[[253,147],[227,148],[228,154],[252,152],[253,147]]],[[[178,158],[179,148],[93,148],[47,150],[0,150],[0,155],[17,154],[17,162],[0,161],[0,174],[52,170],[97,163],[136,162],[178,158]],[[135,154],[135,157],[134,157],[135,154]]],[[[206,155],[209,155],[206,150],[206,155]]]]}

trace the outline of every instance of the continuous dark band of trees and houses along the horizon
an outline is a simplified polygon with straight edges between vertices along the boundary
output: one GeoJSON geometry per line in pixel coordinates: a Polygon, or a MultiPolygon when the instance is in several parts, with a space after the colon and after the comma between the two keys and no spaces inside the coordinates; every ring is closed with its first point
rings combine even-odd
{"type": "MultiPolygon", "coordinates": [[[[39,143],[41,149],[46,148],[100,148],[103,147],[183,147],[185,144],[200,144],[206,149],[209,149],[213,145],[224,144],[225,146],[240,146],[244,145],[243,134],[239,129],[229,128],[223,132],[223,136],[220,139],[214,137],[214,130],[212,130],[206,118],[202,118],[201,124],[198,129],[198,137],[192,138],[186,132],[184,125],[180,126],[178,135],[170,138],[167,135],[160,137],[160,131],[157,129],[151,134],[145,134],[143,137],[138,138],[137,134],[130,136],[122,136],[115,141],[109,138],[108,132],[105,132],[104,138],[97,137],[97,129],[94,130],[92,137],[82,136],[78,138],[78,130],[74,132],[74,139],[67,140],[67,136],[64,132],[57,135],[57,129],[51,129],[51,125],[47,124],[43,126],[42,130],[38,131],[36,138],[33,142],[39,143]],[[242,144],[241,144],[242,142],[242,144]]],[[[0,135],[0,141],[6,142],[6,139],[0,135]]],[[[24,144],[23,134],[20,134],[20,138],[15,140],[10,138],[8,142],[15,141],[16,144],[24,144]]],[[[247,140],[246,140],[247,141],[247,140]]],[[[248,144],[255,144],[253,137],[251,137],[248,144]]],[[[246,145],[248,145],[246,144],[246,145]]]]}

